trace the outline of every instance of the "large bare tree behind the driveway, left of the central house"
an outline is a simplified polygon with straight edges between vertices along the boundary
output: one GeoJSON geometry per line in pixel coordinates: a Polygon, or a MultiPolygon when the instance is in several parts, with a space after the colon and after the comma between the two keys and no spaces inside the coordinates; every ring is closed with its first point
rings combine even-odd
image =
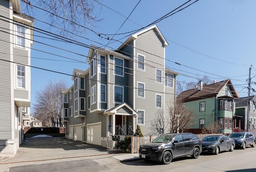
{"type": "Polygon", "coordinates": [[[60,122],[60,89],[66,88],[63,80],[49,83],[42,90],[36,92],[36,103],[34,104],[34,115],[42,121],[45,127],[56,127],[60,122]]]}

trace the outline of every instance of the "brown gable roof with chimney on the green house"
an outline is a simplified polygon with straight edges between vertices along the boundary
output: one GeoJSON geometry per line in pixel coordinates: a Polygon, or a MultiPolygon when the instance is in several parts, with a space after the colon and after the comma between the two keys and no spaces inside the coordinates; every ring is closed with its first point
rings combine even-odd
{"type": "Polygon", "coordinates": [[[228,99],[238,99],[238,95],[230,81],[230,79],[220,81],[217,83],[212,83],[210,85],[205,85],[202,87],[202,90],[200,89],[190,89],[187,91],[183,91],[178,95],[178,99],[182,99],[184,102],[194,101],[194,100],[200,100],[200,99],[206,99],[210,97],[215,97],[218,95],[218,93],[221,91],[221,89],[228,85],[230,88],[230,91],[232,92],[233,97],[230,96],[221,96],[218,98],[228,98],[228,99]]]}

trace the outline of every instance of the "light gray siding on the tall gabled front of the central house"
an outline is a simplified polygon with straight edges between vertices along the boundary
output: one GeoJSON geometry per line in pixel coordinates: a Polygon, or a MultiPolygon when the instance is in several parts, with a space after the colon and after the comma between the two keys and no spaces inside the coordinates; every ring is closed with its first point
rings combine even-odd
{"type": "Polygon", "coordinates": [[[159,110],[164,107],[164,42],[155,30],[149,30],[136,39],[135,61],[138,60],[138,53],[145,56],[145,71],[138,69],[138,63],[135,64],[135,85],[137,82],[145,83],[145,98],[137,97],[135,89],[135,107],[137,111],[145,110],[144,125],[141,125],[144,135],[152,132],[152,121],[159,110]],[[140,49],[143,49],[140,50],[140,49]],[[146,53],[147,52],[147,53],[146,53]],[[159,57],[158,57],[159,56],[159,57]],[[156,69],[162,70],[162,83],[156,83],[156,69]],[[162,108],[156,108],[156,94],[162,95],[162,108]]]}

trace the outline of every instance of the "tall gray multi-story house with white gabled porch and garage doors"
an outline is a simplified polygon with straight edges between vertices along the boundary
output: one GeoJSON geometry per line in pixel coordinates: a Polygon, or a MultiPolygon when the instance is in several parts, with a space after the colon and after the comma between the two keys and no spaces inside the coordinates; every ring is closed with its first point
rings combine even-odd
{"type": "Polygon", "coordinates": [[[91,45],[90,67],[74,69],[74,85],[61,89],[66,136],[113,148],[112,136],[132,135],[137,125],[142,134],[155,134],[157,116],[168,133],[178,73],[165,67],[166,46],[156,25],[133,34],[117,50],[91,45]]]}

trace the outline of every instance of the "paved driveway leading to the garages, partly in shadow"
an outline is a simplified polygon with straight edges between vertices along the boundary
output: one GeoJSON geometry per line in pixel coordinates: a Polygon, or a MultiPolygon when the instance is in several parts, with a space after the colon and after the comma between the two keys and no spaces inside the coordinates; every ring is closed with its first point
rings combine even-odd
{"type": "Polygon", "coordinates": [[[102,146],[86,144],[65,137],[26,138],[14,158],[2,158],[1,163],[32,162],[120,153],[102,146]]]}

